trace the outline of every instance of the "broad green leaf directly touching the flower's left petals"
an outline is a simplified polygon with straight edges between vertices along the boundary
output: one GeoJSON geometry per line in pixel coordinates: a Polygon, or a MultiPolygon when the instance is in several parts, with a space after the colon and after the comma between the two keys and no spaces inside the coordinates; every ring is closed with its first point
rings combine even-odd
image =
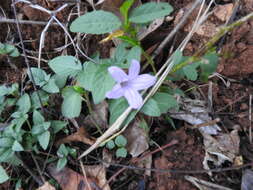
{"type": "Polygon", "coordinates": [[[100,65],[94,76],[92,97],[95,104],[98,104],[104,100],[106,92],[110,91],[115,84],[114,79],[109,74],[107,69],[107,65],[100,65]]]}

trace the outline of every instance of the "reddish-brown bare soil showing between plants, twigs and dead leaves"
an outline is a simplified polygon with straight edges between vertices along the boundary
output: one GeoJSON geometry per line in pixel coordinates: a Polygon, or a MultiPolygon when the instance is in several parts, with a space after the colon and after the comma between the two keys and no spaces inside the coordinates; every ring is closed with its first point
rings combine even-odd
{"type": "MultiPolygon", "coordinates": [[[[180,10],[187,9],[189,3],[194,2],[193,0],[162,0],[163,2],[169,2],[174,7],[174,15],[177,15],[180,10]]],[[[50,2],[47,0],[34,0],[34,3],[49,9],[55,10],[63,5],[62,2],[50,2]]],[[[72,1],[70,1],[72,2],[72,1]]],[[[144,2],[148,2],[144,1],[144,2]]],[[[232,3],[233,1],[217,1],[217,3],[224,5],[232,3]]],[[[4,11],[7,18],[14,19],[14,13],[11,9],[11,0],[5,0],[0,2],[0,8],[4,11]]],[[[91,7],[82,1],[81,11],[90,10],[91,7]]],[[[0,11],[0,16],[2,15],[0,11]]],[[[24,3],[18,3],[17,5],[18,16],[22,20],[33,20],[33,21],[45,21],[49,19],[49,15],[36,10],[34,8],[28,7],[24,3]]],[[[68,6],[59,14],[57,18],[62,23],[69,24],[76,16],[70,16],[72,12],[76,12],[75,4],[68,6]]],[[[236,13],[236,19],[253,11],[253,1],[252,0],[242,0],[241,6],[236,13]]],[[[193,18],[190,18],[189,22],[192,22],[193,18]]],[[[212,18],[210,22],[216,27],[221,25],[223,22],[220,20],[212,18]]],[[[151,46],[157,46],[165,36],[175,26],[175,23],[169,22],[167,25],[162,25],[158,30],[156,30],[153,35],[148,35],[143,41],[143,46],[145,49],[151,48],[151,46]]],[[[223,23],[224,24],[224,23],[223,23]]],[[[26,53],[32,57],[29,58],[31,66],[37,66],[38,52],[39,52],[39,42],[41,32],[45,26],[40,26],[36,24],[22,24],[21,32],[22,38],[24,40],[24,45],[26,48],[26,53]]],[[[187,25],[185,25],[177,35],[174,40],[173,45],[177,45],[182,37],[187,34],[187,25]]],[[[0,42],[2,43],[13,43],[20,48],[20,39],[17,33],[16,25],[0,23],[0,42]],[[9,29],[8,29],[9,28],[9,29]]],[[[74,37],[74,34],[71,34],[74,37]]],[[[50,60],[63,53],[75,55],[75,50],[70,46],[66,48],[66,35],[64,34],[62,28],[59,26],[50,26],[46,33],[45,45],[42,50],[42,58],[45,60],[50,60]],[[64,49],[64,50],[63,50],[64,49]]],[[[99,44],[99,41],[103,39],[104,36],[94,36],[87,35],[87,37],[82,41],[82,50],[89,56],[92,56],[96,52],[99,52],[100,56],[103,58],[110,56],[110,49],[113,47],[112,42],[99,44]]],[[[192,55],[196,50],[199,49],[208,39],[209,36],[194,35],[192,40],[186,47],[184,52],[185,55],[192,55]]],[[[69,43],[69,41],[68,41],[69,43]]],[[[172,45],[171,43],[169,46],[172,45]]],[[[169,47],[165,47],[164,51],[158,56],[156,61],[161,63],[169,55],[169,47]]],[[[210,79],[213,82],[213,113],[214,117],[219,117],[221,119],[220,125],[222,130],[230,131],[234,126],[238,125],[240,127],[240,138],[241,138],[241,148],[240,154],[243,156],[245,162],[253,161],[252,144],[249,143],[247,138],[247,131],[249,129],[250,121],[249,115],[249,95],[253,94],[253,19],[244,23],[242,26],[236,28],[234,31],[229,33],[224,42],[220,45],[221,57],[219,60],[219,66],[217,72],[223,75],[224,80],[229,82],[229,85],[225,84],[222,80],[215,77],[210,79]]],[[[80,59],[84,59],[81,58],[80,59]]],[[[0,57],[0,83],[1,84],[11,84],[14,82],[20,83],[24,79],[24,73],[27,69],[24,58],[7,58],[0,57]],[[13,67],[15,65],[15,67],[13,67]]],[[[47,63],[42,62],[43,68],[48,68],[47,63]]],[[[207,97],[208,91],[206,85],[201,86],[200,90],[207,97]]],[[[154,122],[156,123],[156,122],[154,122]]],[[[203,139],[201,134],[197,130],[189,130],[185,127],[185,123],[178,122],[177,128],[173,129],[169,124],[159,125],[151,127],[150,136],[155,138],[153,140],[159,142],[160,146],[169,143],[172,139],[178,140],[176,146],[169,147],[160,153],[153,155],[152,167],[156,169],[182,169],[182,170],[200,170],[203,169],[203,159],[205,156],[203,139]],[[169,128],[169,129],[168,129],[169,128]]],[[[152,148],[155,148],[152,147],[152,148]]],[[[110,169],[109,173],[112,175],[117,172],[117,169],[110,169]],[[111,170],[111,171],[110,171],[111,170]]],[[[133,172],[133,171],[132,171],[133,172]]],[[[157,189],[157,190],[196,190],[197,188],[191,183],[184,179],[184,174],[175,173],[159,173],[152,172],[151,177],[141,176],[140,174],[135,174],[131,176],[130,172],[122,174],[123,177],[119,177],[118,181],[114,181],[110,184],[113,189],[118,189],[119,184],[127,184],[120,189],[137,189],[140,187],[140,181],[144,180],[146,183],[146,189],[157,189]],[[132,178],[134,177],[134,178],[132,178]],[[132,179],[129,181],[128,179],[132,179]],[[141,180],[140,180],[141,179],[141,180]]],[[[222,174],[214,174],[211,179],[207,174],[194,174],[194,177],[199,179],[212,181],[226,187],[231,187],[234,189],[240,189],[240,179],[241,172],[230,171],[224,172],[222,174]],[[227,180],[227,179],[230,180],[227,180]],[[233,181],[234,180],[234,181],[233,181]]],[[[1,186],[1,188],[6,188],[8,186],[1,186]]],[[[141,189],[141,188],[139,188],[141,189]]]]}

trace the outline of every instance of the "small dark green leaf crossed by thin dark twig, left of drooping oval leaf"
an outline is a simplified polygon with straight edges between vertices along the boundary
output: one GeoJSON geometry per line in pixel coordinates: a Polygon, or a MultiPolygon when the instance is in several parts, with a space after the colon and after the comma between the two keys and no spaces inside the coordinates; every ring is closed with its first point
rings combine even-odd
{"type": "Polygon", "coordinates": [[[49,95],[43,90],[33,92],[31,95],[32,109],[38,109],[41,107],[38,94],[40,96],[42,106],[45,106],[49,100],[49,95]]]}

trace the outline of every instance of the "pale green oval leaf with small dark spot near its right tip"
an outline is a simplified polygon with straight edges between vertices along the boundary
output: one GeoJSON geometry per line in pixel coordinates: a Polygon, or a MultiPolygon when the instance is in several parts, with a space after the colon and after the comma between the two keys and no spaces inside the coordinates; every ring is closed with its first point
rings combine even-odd
{"type": "Polygon", "coordinates": [[[59,56],[49,61],[49,67],[58,75],[75,76],[82,70],[82,65],[73,56],[59,56]]]}

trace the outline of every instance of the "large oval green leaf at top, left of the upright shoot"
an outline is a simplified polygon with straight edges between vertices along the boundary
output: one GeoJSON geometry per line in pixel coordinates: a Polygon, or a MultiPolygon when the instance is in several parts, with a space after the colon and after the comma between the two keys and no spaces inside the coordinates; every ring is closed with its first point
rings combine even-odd
{"type": "Polygon", "coordinates": [[[120,19],[111,12],[92,11],[78,17],[70,25],[71,32],[105,34],[119,29],[120,19]]]}

